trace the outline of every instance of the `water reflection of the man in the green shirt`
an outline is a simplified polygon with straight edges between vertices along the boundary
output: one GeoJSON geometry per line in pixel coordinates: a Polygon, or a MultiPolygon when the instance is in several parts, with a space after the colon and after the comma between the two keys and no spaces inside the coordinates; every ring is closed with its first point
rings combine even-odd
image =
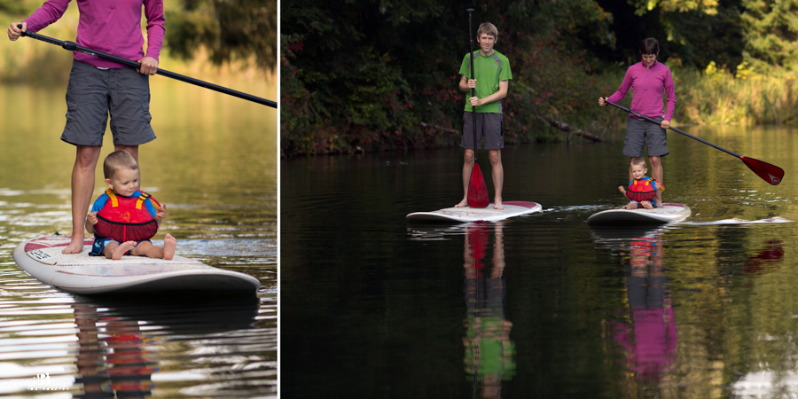
{"type": "Polygon", "coordinates": [[[505,318],[505,247],[503,223],[495,223],[493,267],[486,276],[483,259],[489,246],[489,223],[465,228],[465,372],[473,382],[474,395],[501,397],[502,381],[515,375],[515,345],[510,340],[512,323],[505,318]]]}

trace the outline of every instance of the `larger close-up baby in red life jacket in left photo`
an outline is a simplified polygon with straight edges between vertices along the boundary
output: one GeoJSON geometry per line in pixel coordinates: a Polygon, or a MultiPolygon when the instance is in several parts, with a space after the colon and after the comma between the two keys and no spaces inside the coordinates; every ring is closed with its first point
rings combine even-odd
{"type": "Polygon", "coordinates": [[[94,234],[89,255],[114,261],[126,254],[171,260],[177,247],[174,237],[167,234],[163,246],[150,242],[166,217],[166,205],[138,191],[138,162],[127,151],[115,151],[103,162],[103,173],[108,189],[94,201],[86,218],[86,230],[94,234]]]}

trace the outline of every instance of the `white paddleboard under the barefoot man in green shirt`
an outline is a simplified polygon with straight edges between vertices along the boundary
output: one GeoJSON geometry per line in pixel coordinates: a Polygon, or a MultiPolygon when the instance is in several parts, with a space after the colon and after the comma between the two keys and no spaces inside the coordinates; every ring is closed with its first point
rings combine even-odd
{"type": "Polygon", "coordinates": [[[504,209],[494,209],[491,202],[488,207],[447,207],[432,212],[414,212],[407,215],[407,220],[415,223],[497,222],[543,209],[540,204],[528,201],[507,201],[502,202],[502,205],[504,209]]]}

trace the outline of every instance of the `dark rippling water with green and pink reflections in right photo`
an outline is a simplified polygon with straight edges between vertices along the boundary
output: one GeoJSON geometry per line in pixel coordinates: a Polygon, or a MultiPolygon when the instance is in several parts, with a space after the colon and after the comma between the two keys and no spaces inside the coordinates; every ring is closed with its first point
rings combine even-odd
{"type": "Polygon", "coordinates": [[[423,226],[404,216],[462,197],[460,150],[282,161],[281,394],[798,395],[798,131],[687,130],[784,182],[672,133],[664,198],[688,223],[591,230],[625,202],[622,136],[512,146],[505,200],[544,212],[423,226]]]}

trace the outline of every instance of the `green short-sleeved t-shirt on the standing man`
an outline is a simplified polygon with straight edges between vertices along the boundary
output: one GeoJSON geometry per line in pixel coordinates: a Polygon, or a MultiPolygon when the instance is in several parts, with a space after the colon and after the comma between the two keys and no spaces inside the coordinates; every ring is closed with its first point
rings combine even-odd
{"type": "MultiPolygon", "coordinates": [[[[473,76],[477,80],[476,97],[486,98],[498,91],[498,82],[509,81],[512,79],[510,72],[510,60],[504,54],[493,51],[488,57],[483,57],[480,51],[474,51],[476,57],[473,59],[473,76]]],[[[466,79],[471,79],[471,54],[465,54],[463,64],[460,66],[460,74],[466,79]]],[[[471,90],[465,92],[465,111],[471,111],[471,90]]],[[[502,113],[502,105],[499,101],[494,101],[484,106],[477,106],[478,113],[502,113]]]]}

